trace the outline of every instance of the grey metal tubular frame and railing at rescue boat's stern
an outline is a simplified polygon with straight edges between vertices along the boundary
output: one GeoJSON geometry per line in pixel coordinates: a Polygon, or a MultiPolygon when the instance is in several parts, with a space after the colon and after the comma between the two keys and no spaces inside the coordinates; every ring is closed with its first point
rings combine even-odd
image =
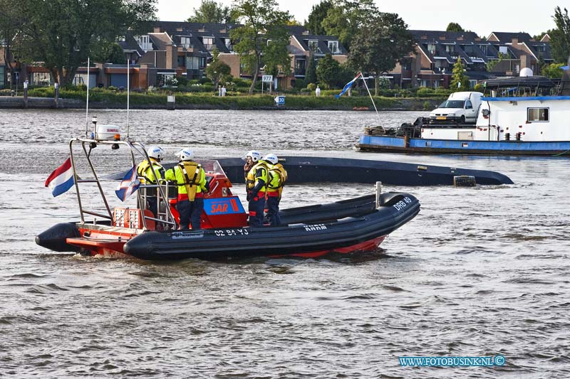
{"type": "MultiPolygon", "coordinates": [[[[93,152],[93,149],[95,149],[95,147],[97,147],[98,145],[110,146],[111,149],[113,149],[113,150],[119,149],[120,146],[127,146],[130,150],[130,161],[131,161],[133,167],[136,167],[136,165],[137,165],[137,161],[135,159],[135,154],[136,154],[136,156],[142,156],[143,159],[147,159],[147,161],[150,161],[150,156],[148,156],[147,151],[145,149],[145,146],[143,146],[139,142],[133,142],[133,141],[129,141],[129,140],[125,140],[125,141],[96,140],[96,139],[88,139],[88,138],[71,139],[71,141],[69,142],[69,151],[70,151],[70,157],[71,157],[71,166],[73,169],[73,179],[75,181],[75,186],[76,186],[76,193],[77,193],[77,200],[78,200],[78,205],[79,205],[79,213],[80,213],[80,217],[81,217],[81,223],[86,223],[86,215],[93,215],[95,217],[105,218],[105,219],[111,220],[111,222],[113,222],[113,212],[111,211],[108,199],[105,196],[105,192],[103,191],[103,186],[101,186],[99,176],[97,174],[97,171],[95,170],[95,166],[93,165],[93,161],[91,159],[91,153],[93,152]],[[74,149],[73,149],[73,147],[76,145],[81,146],[81,150],[85,154],[85,158],[86,158],[86,161],[88,163],[90,173],[93,175],[93,178],[82,179],[78,175],[77,165],[76,165],[77,157],[76,157],[76,154],[74,154],[74,149]],[[80,191],[80,185],[83,183],[95,183],[97,185],[98,193],[99,193],[101,200],[103,201],[103,205],[104,205],[104,208],[106,210],[106,213],[100,213],[100,212],[95,211],[95,210],[88,210],[88,209],[84,208],[83,201],[81,198],[81,191],[80,191]]],[[[155,175],[155,178],[160,178],[160,175],[158,174],[157,170],[155,169],[155,166],[151,165],[150,167],[152,167],[152,171],[153,171],[153,174],[155,175]]],[[[142,225],[140,225],[140,226],[142,226],[142,229],[144,229],[144,230],[148,229],[147,220],[152,220],[152,221],[154,221],[154,223],[157,223],[158,229],[164,230],[164,229],[175,228],[176,227],[175,218],[174,218],[174,215],[172,215],[172,211],[170,210],[170,206],[168,203],[168,197],[167,197],[168,184],[166,183],[164,186],[163,185],[159,186],[159,185],[141,184],[139,186],[139,189],[140,188],[142,188],[142,191],[137,191],[136,195],[137,195],[137,207],[138,207],[138,209],[141,210],[141,215],[142,215],[142,225]],[[159,204],[159,206],[157,208],[159,210],[163,209],[163,212],[157,212],[158,214],[155,215],[155,217],[147,215],[144,212],[144,210],[147,208],[147,206],[146,206],[146,204],[147,204],[147,193],[146,193],[147,190],[146,190],[146,188],[151,188],[151,187],[157,188],[156,196],[157,196],[157,204],[159,204]],[[164,204],[164,206],[162,207],[161,204],[164,204]]],[[[95,223],[95,220],[93,220],[93,222],[95,223]]]]}

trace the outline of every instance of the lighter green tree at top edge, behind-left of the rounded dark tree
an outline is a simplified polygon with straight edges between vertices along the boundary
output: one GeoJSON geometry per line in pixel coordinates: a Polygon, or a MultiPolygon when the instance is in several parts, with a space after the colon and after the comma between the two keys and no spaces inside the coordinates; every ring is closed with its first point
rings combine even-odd
{"type": "Polygon", "coordinates": [[[338,36],[338,41],[350,50],[353,36],[373,14],[378,14],[373,0],[332,0],[321,25],[329,36],[338,36]]]}

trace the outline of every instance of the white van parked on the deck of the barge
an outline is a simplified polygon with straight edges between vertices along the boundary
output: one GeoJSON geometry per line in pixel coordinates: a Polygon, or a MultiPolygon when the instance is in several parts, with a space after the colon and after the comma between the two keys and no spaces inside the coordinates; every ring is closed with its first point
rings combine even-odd
{"type": "Polygon", "coordinates": [[[475,124],[481,105],[481,92],[455,92],[430,112],[430,124],[475,124]]]}

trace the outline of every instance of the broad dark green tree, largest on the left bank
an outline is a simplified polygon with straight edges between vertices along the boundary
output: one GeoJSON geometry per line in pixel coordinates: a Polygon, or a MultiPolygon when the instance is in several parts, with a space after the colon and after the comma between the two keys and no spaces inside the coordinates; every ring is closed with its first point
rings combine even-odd
{"type": "Polygon", "coordinates": [[[41,61],[60,85],[73,81],[77,68],[105,51],[126,31],[140,33],[155,18],[156,0],[21,0],[28,60],[41,61]]]}

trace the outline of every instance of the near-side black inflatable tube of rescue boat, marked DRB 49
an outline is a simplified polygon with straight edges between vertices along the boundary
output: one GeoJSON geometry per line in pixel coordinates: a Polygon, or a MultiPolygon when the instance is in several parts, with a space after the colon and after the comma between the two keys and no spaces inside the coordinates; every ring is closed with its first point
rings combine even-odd
{"type": "Polygon", "coordinates": [[[384,237],[420,211],[408,193],[386,193],[389,200],[366,215],[322,223],[276,228],[227,228],[142,233],[125,244],[125,252],[145,260],[179,260],[296,255],[375,250],[384,237]]]}

